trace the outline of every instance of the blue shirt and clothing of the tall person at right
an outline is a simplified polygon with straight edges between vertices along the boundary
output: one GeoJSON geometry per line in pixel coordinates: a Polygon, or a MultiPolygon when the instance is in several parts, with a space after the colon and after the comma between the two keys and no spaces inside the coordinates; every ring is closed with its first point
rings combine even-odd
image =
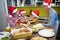
{"type": "Polygon", "coordinates": [[[49,13],[49,23],[48,24],[43,24],[44,26],[50,26],[55,28],[55,32],[58,30],[58,15],[57,12],[50,8],[50,13],[49,13]]]}

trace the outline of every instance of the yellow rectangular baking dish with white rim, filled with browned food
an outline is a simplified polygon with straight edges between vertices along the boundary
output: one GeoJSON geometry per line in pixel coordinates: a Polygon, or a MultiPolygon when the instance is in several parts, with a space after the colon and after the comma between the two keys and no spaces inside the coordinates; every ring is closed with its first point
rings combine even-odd
{"type": "Polygon", "coordinates": [[[21,39],[32,35],[30,28],[20,28],[11,31],[14,39],[21,39]]]}

